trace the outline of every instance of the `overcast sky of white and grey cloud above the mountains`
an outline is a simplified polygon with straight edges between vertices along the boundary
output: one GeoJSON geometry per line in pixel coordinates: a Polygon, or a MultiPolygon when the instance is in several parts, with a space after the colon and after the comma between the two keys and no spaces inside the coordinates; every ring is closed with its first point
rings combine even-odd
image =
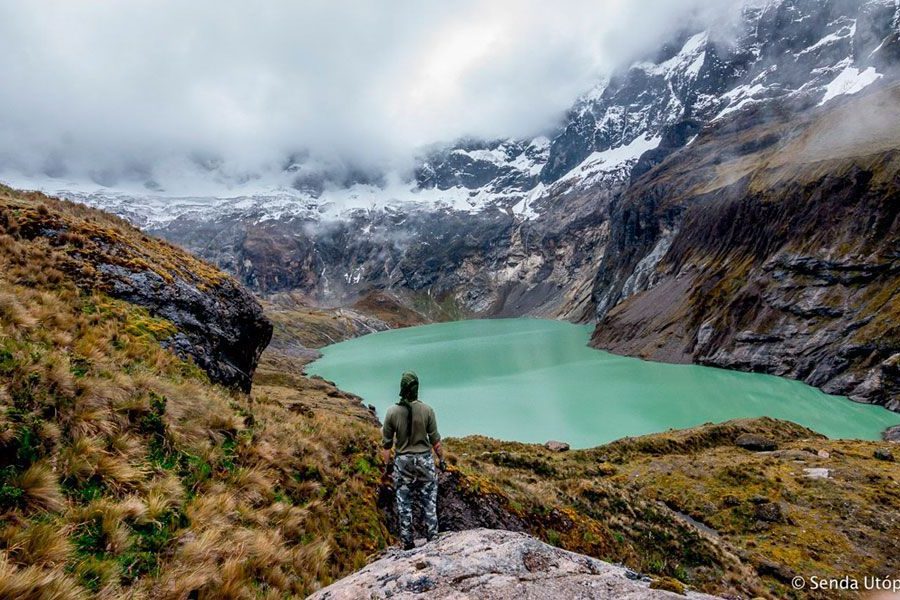
{"type": "Polygon", "coordinates": [[[733,0],[0,0],[0,170],[383,167],[551,128],[602,73],[733,0]],[[699,15],[699,16],[698,16],[699,15]]]}

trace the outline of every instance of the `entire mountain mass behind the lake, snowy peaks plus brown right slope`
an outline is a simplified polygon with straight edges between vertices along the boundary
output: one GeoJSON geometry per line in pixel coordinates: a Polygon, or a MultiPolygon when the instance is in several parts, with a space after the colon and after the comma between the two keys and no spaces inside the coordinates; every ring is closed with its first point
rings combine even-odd
{"type": "Polygon", "coordinates": [[[207,165],[227,193],[39,183],[262,294],[599,320],[593,343],[617,352],[900,409],[898,69],[900,0],[751,0],[545,135],[433,146],[406,176],[298,153],[237,179],[207,165]]]}

